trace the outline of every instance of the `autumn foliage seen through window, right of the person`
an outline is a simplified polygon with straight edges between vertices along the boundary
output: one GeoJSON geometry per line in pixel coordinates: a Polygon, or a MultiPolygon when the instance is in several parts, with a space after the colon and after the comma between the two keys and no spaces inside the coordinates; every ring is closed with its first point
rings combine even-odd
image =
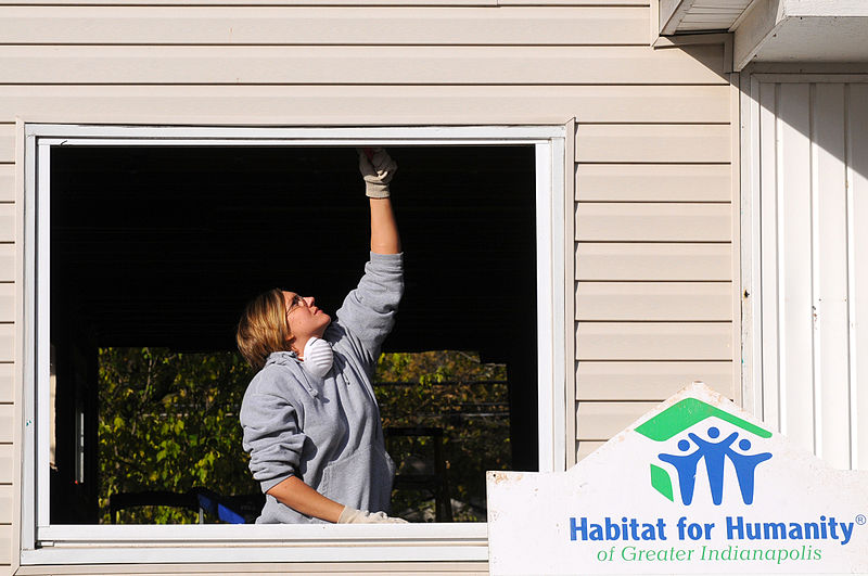
{"type": "MultiPolygon", "coordinates": [[[[383,426],[438,427],[456,521],[485,521],[485,472],[507,470],[509,400],[505,364],[483,363],[476,354],[439,350],[380,357],[376,397],[383,426]]],[[[393,437],[390,453],[398,472],[408,464],[433,464],[432,438],[393,437]]],[[[434,501],[424,491],[397,490],[393,512],[433,520],[434,501]]]]}

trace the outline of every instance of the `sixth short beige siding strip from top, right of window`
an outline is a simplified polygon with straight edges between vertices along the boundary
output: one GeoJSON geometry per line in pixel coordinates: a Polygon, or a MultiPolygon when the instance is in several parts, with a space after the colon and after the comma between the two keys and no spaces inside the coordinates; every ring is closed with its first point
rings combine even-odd
{"type": "Polygon", "coordinates": [[[578,360],[731,360],[728,322],[579,322],[578,360]]]}

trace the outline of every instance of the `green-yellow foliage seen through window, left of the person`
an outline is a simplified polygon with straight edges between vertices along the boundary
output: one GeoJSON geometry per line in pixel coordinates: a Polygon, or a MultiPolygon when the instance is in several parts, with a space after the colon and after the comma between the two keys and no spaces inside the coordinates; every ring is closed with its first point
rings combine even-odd
{"type": "MultiPolygon", "coordinates": [[[[238,410],[251,373],[235,354],[164,348],[102,348],[100,507],[118,492],[205,487],[222,495],[258,491],[241,448],[238,410]]],[[[190,523],[174,508],[122,512],[127,523],[190,523]]]]}

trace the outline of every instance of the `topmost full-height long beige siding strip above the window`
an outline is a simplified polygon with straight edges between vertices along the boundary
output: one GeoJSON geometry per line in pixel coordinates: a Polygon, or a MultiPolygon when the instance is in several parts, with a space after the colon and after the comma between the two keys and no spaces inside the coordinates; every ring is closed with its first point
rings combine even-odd
{"type": "Polygon", "coordinates": [[[644,7],[7,7],[0,38],[4,44],[648,44],[648,18],[644,7]]]}

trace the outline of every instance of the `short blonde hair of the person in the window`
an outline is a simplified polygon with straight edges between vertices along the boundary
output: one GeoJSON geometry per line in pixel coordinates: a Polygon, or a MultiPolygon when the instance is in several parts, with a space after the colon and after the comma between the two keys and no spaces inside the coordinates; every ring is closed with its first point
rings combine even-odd
{"type": "Polygon", "coordinates": [[[247,304],[238,323],[235,342],[247,363],[261,370],[269,354],[288,349],[290,336],[283,292],[273,289],[247,304]]]}

